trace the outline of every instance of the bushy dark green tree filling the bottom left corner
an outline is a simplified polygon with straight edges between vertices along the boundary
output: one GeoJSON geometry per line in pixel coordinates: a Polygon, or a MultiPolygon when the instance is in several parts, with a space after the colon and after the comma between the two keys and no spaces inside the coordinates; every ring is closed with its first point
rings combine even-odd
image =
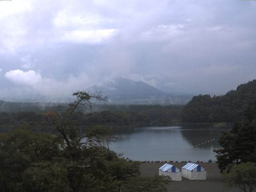
{"type": "Polygon", "coordinates": [[[0,134],[0,191],[20,191],[22,176],[34,162],[61,156],[62,140],[23,128],[0,134]]]}

